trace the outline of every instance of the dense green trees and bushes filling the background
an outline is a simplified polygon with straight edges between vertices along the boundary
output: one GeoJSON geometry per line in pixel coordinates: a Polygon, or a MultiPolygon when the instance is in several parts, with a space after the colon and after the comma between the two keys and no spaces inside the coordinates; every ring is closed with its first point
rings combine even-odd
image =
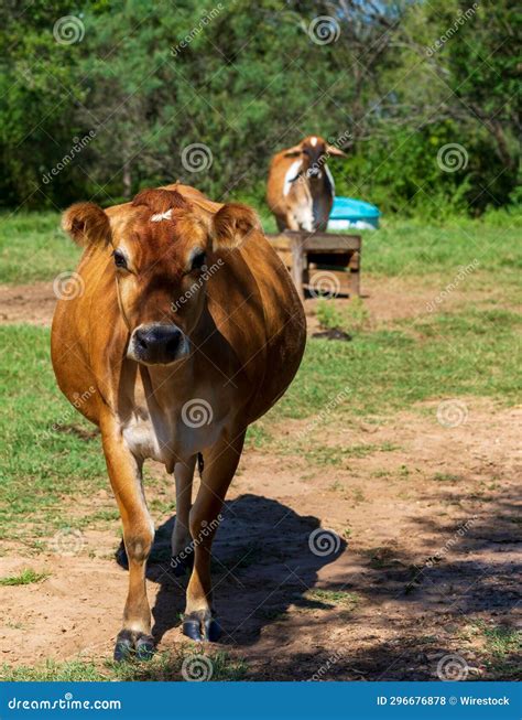
{"type": "Polygon", "coordinates": [[[349,155],[331,163],[337,192],[385,212],[513,204],[519,23],[510,0],[7,0],[0,202],[111,204],[180,179],[259,203],[270,157],[317,133],[349,155]],[[320,15],[338,30],[324,44],[320,15]],[[181,162],[195,142],[214,159],[197,173],[181,162]],[[465,151],[455,172],[437,162],[448,143],[465,151]]]}

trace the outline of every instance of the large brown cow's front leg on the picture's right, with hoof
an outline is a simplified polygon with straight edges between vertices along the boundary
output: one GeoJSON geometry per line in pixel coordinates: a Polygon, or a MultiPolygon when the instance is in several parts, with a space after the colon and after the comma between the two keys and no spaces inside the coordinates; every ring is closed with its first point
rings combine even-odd
{"type": "Polygon", "coordinates": [[[217,442],[204,453],[202,484],[189,515],[194,569],[187,587],[183,633],[196,641],[217,641],[220,627],[213,609],[210,549],[228,486],[241,456],[244,431],[217,442]]]}

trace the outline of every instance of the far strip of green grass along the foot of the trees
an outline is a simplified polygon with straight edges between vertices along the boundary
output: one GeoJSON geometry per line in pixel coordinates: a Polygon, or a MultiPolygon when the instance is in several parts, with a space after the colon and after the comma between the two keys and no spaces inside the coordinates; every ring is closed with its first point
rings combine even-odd
{"type": "MultiPolygon", "coordinates": [[[[265,232],[275,232],[273,217],[261,209],[265,232]]],[[[461,284],[482,287],[496,276],[502,284],[516,283],[522,267],[521,215],[497,226],[480,221],[461,221],[448,227],[424,227],[418,222],[385,218],[378,232],[365,232],[362,271],[389,278],[433,276],[452,281],[460,267],[474,260],[478,268],[461,284]]],[[[80,250],[59,229],[59,214],[19,213],[0,215],[0,282],[52,280],[74,269],[80,250]]],[[[444,287],[444,286],[443,286],[444,287]]]]}

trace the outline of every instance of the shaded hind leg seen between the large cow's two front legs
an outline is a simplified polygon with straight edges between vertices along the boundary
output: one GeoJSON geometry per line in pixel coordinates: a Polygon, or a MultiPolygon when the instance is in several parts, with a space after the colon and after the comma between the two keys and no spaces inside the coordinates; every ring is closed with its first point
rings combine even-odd
{"type": "Polygon", "coordinates": [[[183,576],[192,570],[194,565],[194,547],[192,544],[188,515],[192,506],[192,483],[196,455],[185,462],[176,462],[174,477],[176,480],[176,522],[172,533],[171,568],[175,576],[183,576]]]}

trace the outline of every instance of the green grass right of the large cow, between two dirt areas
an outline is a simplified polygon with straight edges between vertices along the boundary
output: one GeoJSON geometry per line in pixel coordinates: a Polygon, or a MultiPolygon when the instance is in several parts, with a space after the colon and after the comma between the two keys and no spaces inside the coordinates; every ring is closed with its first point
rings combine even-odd
{"type": "Polygon", "coordinates": [[[324,410],[323,426],[339,415],[385,415],[431,398],[488,396],[514,404],[521,325],[515,312],[470,304],[454,314],[362,331],[348,343],[312,338],[294,384],[270,417],[307,418],[324,410]]]}

